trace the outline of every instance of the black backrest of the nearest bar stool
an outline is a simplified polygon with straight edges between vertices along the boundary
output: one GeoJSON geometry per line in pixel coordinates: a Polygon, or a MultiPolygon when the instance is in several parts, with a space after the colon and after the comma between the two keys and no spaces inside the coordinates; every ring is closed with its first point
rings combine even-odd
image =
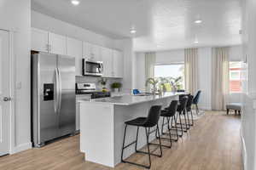
{"type": "Polygon", "coordinates": [[[153,105],[148,111],[148,117],[146,122],[144,122],[145,127],[154,127],[160,118],[161,105],[153,105]]]}

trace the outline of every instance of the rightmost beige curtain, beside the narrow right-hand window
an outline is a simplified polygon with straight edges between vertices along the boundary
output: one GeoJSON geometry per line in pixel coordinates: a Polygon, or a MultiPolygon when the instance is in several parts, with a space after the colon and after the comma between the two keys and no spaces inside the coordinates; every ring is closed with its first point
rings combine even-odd
{"type": "Polygon", "coordinates": [[[230,93],[229,48],[212,48],[212,110],[224,111],[230,93]]]}

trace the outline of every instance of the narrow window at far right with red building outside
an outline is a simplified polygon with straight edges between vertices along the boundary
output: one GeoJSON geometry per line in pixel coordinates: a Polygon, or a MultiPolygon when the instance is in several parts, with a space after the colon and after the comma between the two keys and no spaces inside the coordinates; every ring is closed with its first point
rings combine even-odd
{"type": "Polygon", "coordinates": [[[230,93],[241,92],[241,62],[230,62],[230,93]]]}

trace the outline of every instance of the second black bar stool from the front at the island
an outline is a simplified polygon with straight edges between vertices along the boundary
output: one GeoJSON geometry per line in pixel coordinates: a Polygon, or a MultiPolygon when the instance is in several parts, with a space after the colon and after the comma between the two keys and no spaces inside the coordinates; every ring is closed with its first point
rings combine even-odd
{"type": "MultiPolygon", "coordinates": [[[[172,100],[169,107],[167,107],[165,110],[161,111],[161,114],[160,114],[160,116],[163,117],[161,133],[164,134],[164,135],[169,135],[169,138],[163,138],[163,137],[157,137],[157,138],[170,140],[170,145],[162,144],[162,146],[165,146],[167,148],[172,147],[172,140],[177,141],[177,139],[178,139],[177,123],[175,121],[176,112],[177,112],[177,100],[172,100]],[[174,123],[175,123],[176,139],[172,139],[173,134],[171,133],[172,128],[170,127],[170,119],[171,118],[172,118],[172,121],[174,119],[174,123]],[[166,123],[165,123],[165,119],[167,119],[166,123]],[[164,126],[166,126],[166,125],[167,125],[167,128],[168,128],[168,133],[164,133],[164,126]]],[[[172,125],[172,123],[171,123],[171,125],[172,125]]]]}

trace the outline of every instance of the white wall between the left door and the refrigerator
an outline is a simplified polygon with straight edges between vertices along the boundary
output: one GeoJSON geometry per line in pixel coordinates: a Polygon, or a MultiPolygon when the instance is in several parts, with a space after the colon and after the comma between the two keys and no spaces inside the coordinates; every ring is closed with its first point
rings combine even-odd
{"type": "Polygon", "coordinates": [[[26,150],[30,142],[30,0],[0,1],[0,28],[14,31],[14,128],[11,153],[26,150]]]}

